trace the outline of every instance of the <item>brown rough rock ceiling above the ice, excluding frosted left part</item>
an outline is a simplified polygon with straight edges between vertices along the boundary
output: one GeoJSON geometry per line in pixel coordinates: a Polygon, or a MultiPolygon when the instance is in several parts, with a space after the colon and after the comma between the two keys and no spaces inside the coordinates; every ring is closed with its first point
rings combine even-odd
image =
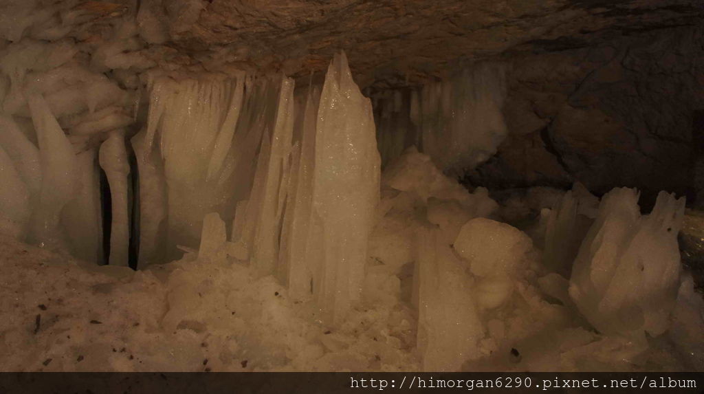
{"type": "Polygon", "coordinates": [[[182,49],[230,53],[232,60],[304,75],[323,70],[344,49],[362,84],[422,79],[456,58],[522,44],[586,46],[703,15],[691,0],[161,1],[167,10],[202,7],[190,19],[171,15],[171,38],[182,49]]]}

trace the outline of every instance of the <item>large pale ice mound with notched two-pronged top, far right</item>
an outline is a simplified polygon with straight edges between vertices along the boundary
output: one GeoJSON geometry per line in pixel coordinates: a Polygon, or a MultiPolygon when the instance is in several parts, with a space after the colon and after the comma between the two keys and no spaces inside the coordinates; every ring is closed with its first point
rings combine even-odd
{"type": "Polygon", "coordinates": [[[667,330],[679,286],[684,202],[660,192],[653,212],[641,216],[634,189],[603,197],[570,279],[570,296],[596,329],[651,336],[667,330]]]}

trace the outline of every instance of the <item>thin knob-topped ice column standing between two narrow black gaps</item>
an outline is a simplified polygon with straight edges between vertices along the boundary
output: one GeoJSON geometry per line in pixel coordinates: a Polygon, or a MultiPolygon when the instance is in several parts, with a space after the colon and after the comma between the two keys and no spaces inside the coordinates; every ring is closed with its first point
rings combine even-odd
{"type": "Polygon", "coordinates": [[[130,246],[130,212],[127,200],[127,162],[125,132],[115,130],[100,146],[100,166],[110,185],[112,223],[110,232],[110,265],[128,265],[130,246]]]}

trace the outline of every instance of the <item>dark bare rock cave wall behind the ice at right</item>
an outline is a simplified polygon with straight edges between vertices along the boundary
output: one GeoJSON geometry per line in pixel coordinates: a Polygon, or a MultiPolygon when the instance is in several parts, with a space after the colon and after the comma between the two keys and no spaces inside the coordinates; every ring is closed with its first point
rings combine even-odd
{"type": "Polygon", "coordinates": [[[510,62],[498,153],[468,174],[494,188],[635,186],[696,196],[703,132],[702,27],[639,32],[597,46],[543,46],[510,62]]]}

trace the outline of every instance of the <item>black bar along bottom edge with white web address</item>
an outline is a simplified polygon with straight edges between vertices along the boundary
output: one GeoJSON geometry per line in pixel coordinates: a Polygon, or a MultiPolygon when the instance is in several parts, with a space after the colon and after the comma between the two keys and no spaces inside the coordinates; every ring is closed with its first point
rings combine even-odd
{"type": "Polygon", "coordinates": [[[701,372],[1,373],[0,393],[704,393],[701,372]]]}

